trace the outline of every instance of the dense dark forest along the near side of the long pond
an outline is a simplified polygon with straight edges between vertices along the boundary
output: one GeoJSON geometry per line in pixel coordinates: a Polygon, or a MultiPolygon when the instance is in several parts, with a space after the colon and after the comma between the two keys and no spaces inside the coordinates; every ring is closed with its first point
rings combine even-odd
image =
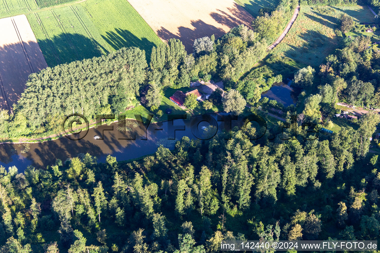
{"type": "Polygon", "coordinates": [[[379,162],[363,140],[379,122],[370,113],[357,131],[310,140],[288,119],[292,127],[273,126],[256,141],[248,123],[136,160],[81,154],[24,173],[1,167],[0,252],[218,252],[222,239],[377,239],[379,162]]]}

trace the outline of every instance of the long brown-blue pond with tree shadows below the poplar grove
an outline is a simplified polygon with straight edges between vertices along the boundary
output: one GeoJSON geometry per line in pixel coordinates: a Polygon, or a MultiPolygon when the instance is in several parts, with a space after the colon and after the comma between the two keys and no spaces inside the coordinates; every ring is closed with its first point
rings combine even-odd
{"type": "MultiPolygon", "coordinates": [[[[214,117],[217,115],[217,113],[213,114],[214,117]]],[[[191,121],[182,119],[174,119],[173,123],[166,121],[149,124],[146,136],[145,127],[142,123],[138,127],[130,126],[132,131],[126,132],[126,134],[120,132],[117,129],[120,125],[114,123],[111,126],[103,125],[96,129],[89,129],[87,135],[81,140],[70,140],[63,137],[53,141],[31,143],[30,149],[26,153],[20,152],[24,149],[24,146],[2,144],[0,145],[0,165],[5,168],[16,166],[21,172],[30,164],[46,168],[47,165],[53,165],[56,159],[65,161],[68,158],[78,156],[80,153],[89,153],[96,156],[99,162],[104,162],[108,155],[115,156],[119,161],[135,159],[147,154],[153,154],[157,150],[156,144],[161,139],[175,137],[180,140],[184,136],[188,136],[190,139],[195,138],[190,124],[191,121]],[[185,130],[174,131],[181,127],[185,128],[185,130]],[[103,140],[94,139],[96,135],[102,137],[103,140]],[[131,140],[134,138],[135,140],[131,140]]],[[[219,130],[223,126],[223,122],[218,122],[219,130]]],[[[169,146],[174,148],[173,145],[169,146]]]]}

